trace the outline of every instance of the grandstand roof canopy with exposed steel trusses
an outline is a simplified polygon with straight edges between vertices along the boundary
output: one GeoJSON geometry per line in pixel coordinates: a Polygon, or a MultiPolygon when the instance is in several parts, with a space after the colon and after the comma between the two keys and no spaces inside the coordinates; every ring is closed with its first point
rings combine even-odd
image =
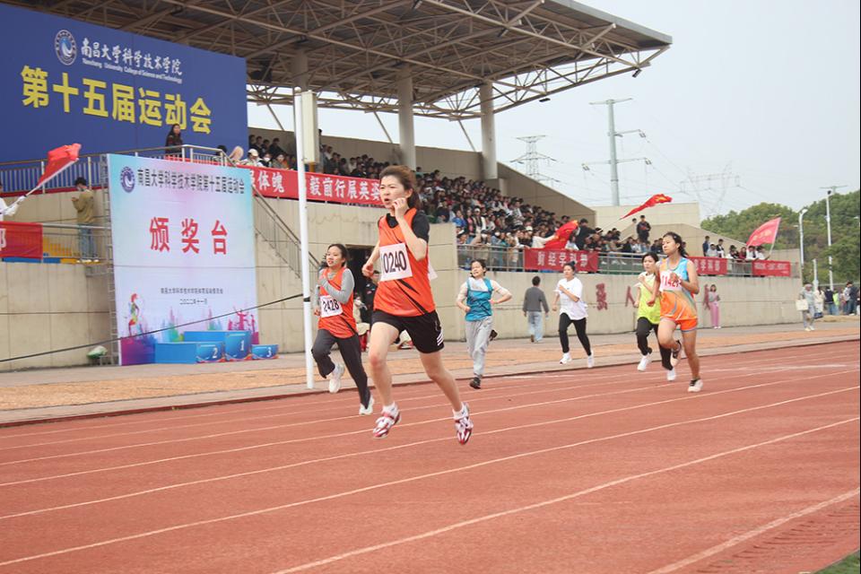
{"type": "Polygon", "coordinates": [[[672,38],[570,0],[13,0],[246,58],[248,100],[291,103],[291,60],[308,59],[321,107],[480,116],[478,86],[503,111],[650,65],[672,38]]]}

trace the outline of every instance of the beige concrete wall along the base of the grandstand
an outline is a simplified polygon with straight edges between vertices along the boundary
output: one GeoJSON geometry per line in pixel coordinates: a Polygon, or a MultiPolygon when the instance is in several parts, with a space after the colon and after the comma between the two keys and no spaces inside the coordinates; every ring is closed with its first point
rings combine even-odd
{"type": "MultiPolygon", "coordinates": [[[[293,204],[293,202],[282,202],[293,204]]],[[[290,212],[288,205],[280,209],[290,212]]],[[[373,222],[365,213],[351,213],[346,208],[343,221],[334,224],[334,206],[313,205],[309,208],[312,230],[312,254],[336,240],[352,246],[370,247],[376,242],[373,222]],[[328,221],[329,224],[326,224],[328,221]]],[[[377,210],[366,210],[378,213],[377,210]]],[[[463,313],[455,306],[460,284],[466,279],[457,268],[457,251],[453,247],[451,224],[431,227],[431,262],[439,277],[431,283],[442,326],[448,340],[465,336],[463,313]]],[[[492,273],[491,279],[512,291],[514,298],[496,311],[494,328],[501,337],[525,337],[526,321],[521,303],[531,285],[532,273],[492,273]]],[[[542,288],[552,304],[552,290],[560,274],[540,274],[542,288]]],[[[621,333],[634,326],[635,309],[626,302],[633,275],[583,274],[585,299],[589,305],[589,332],[621,333]],[[597,309],[597,290],[603,285],[607,309],[597,309]]],[[[703,278],[715,283],[721,295],[721,316],[725,326],[765,325],[795,321],[798,314],[793,301],[798,291],[796,278],[703,278]]],[[[301,292],[296,274],[283,265],[262,239],[257,239],[257,301],[271,300],[301,292]]],[[[698,297],[698,301],[701,297],[698,297]]],[[[49,351],[77,344],[107,339],[109,336],[109,300],[106,278],[86,277],[82,265],[39,265],[0,263],[0,358],[49,351]]],[[[706,317],[700,312],[701,317],[706,317]]],[[[303,348],[300,298],[265,307],[259,311],[261,340],[277,343],[285,352],[303,348]]],[[[556,315],[551,314],[548,332],[555,330],[556,315]]],[[[315,321],[316,323],[316,321],[315,321]]],[[[708,324],[708,323],[707,323],[708,324]]],[[[316,335],[316,330],[315,330],[316,335]]],[[[58,367],[85,364],[86,350],[4,363],[0,369],[58,367]]]]}

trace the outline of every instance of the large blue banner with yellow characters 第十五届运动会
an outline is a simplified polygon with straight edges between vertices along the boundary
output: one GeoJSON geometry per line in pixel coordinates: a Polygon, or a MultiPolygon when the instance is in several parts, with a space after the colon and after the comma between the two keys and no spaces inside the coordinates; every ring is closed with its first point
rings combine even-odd
{"type": "Polygon", "coordinates": [[[0,4],[0,161],[183,143],[248,144],[245,60],[0,4]]]}

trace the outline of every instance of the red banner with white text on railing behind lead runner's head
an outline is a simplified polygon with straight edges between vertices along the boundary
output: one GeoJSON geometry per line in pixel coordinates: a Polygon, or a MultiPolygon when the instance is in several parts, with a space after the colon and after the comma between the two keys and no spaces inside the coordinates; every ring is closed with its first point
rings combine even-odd
{"type": "MultiPolygon", "coordinates": [[[[299,172],[241,166],[251,170],[257,193],[264,197],[299,199],[299,172]]],[[[344,178],[324,173],[305,173],[309,201],[382,206],[377,179],[344,178]]]]}

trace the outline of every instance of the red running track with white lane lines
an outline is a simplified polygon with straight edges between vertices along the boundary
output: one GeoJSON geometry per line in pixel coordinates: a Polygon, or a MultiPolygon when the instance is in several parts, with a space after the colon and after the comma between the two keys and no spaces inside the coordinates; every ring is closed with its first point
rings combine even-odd
{"type": "Polygon", "coordinates": [[[0,430],[2,572],[798,572],[857,549],[857,342],[0,430]]]}

